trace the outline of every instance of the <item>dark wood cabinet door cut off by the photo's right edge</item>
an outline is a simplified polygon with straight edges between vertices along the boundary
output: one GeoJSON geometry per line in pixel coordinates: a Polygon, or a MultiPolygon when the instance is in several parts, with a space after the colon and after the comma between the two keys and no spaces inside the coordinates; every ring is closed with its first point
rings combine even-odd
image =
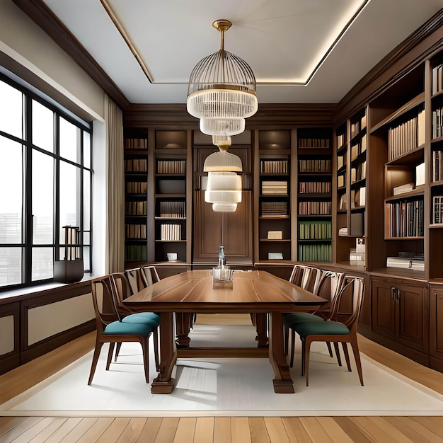
{"type": "Polygon", "coordinates": [[[443,285],[430,285],[429,353],[430,367],[443,372],[443,285]]]}

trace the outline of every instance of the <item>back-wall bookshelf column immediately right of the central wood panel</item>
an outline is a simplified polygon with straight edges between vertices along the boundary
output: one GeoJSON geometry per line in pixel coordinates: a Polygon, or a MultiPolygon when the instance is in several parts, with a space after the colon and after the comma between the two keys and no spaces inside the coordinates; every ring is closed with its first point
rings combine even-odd
{"type": "Polygon", "coordinates": [[[258,260],[292,260],[291,130],[258,132],[258,260]]]}

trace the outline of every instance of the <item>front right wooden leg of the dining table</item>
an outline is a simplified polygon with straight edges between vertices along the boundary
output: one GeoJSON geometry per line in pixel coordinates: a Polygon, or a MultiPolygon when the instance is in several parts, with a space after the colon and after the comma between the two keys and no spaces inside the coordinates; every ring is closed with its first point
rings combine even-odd
{"type": "Polygon", "coordinates": [[[283,314],[281,312],[270,313],[269,359],[275,374],[273,380],[275,393],[294,393],[294,382],[284,355],[283,314]]]}

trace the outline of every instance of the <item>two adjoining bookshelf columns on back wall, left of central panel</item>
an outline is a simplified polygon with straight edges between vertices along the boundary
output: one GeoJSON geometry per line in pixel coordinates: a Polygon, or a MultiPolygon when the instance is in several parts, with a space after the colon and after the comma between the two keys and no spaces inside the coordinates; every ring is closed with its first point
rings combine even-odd
{"type": "Polygon", "coordinates": [[[190,260],[190,134],[186,130],[125,132],[127,267],[190,260]]]}

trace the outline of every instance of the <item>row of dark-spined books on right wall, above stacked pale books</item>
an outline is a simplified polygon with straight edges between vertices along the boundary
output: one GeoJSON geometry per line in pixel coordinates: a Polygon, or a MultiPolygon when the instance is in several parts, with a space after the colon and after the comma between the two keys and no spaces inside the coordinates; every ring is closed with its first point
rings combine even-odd
{"type": "Polygon", "coordinates": [[[393,202],[389,207],[389,236],[422,237],[424,235],[423,199],[393,202]]]}

